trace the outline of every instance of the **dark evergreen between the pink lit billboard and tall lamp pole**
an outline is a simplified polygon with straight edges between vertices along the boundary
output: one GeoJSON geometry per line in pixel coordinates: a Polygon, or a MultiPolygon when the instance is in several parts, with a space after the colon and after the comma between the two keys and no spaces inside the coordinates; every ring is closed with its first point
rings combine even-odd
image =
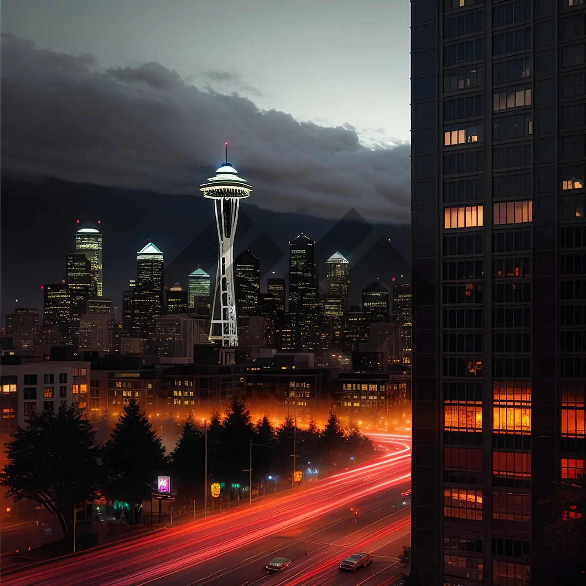
{"type": "Polygon", "coordinates": [[[178,494],[184,501],[192,502],[203,486],[205,468],[203,429],[197,426],[192,414],[183,425],[170,457],[171,476],[178,494]]]}

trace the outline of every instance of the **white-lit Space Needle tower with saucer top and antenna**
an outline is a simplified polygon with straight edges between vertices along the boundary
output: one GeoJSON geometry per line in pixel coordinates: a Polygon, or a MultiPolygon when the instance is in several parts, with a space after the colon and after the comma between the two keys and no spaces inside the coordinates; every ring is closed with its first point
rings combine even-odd
{"type": "Polygon", "coordinates": [[[234,298],[234,235],[240,200],[248,197],[253,188],[238,176],[236,169],[228,162],[227,142],[226,162],[216,169],[215,177],[210,177],[200,185],[199,190],[204,197],[214,200],[219,244],[209,339],[222,342],[222,346],[233,347],[238,345],[234,298]]]}

